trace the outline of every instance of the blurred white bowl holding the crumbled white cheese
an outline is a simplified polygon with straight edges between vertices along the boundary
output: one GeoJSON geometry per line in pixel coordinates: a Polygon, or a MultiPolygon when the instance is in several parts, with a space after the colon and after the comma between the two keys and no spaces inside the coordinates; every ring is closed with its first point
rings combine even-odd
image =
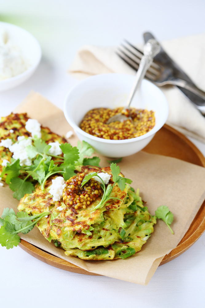
{"type": "Polygon", "coordinates": [[[24,58],[30,64],[25,72],[0,80],[0,91],[5,91],[23,83],[34,73],[41,60],[41,47],[32,34],[18,26],[7,22],[0,22],[0,29],[7,31],[9,39],[20,47],[24,58]]]}

